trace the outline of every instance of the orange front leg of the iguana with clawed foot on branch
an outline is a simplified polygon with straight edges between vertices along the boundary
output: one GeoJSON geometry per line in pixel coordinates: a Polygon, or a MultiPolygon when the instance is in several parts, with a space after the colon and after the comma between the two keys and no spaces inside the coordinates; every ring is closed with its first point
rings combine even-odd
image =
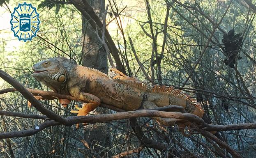
{"type": "MultiPolygon", "coordinates": [[[[78,108],[76,105],[75,108],[77,110],[71,110],[71,113],[77,113],[77,116],[85,116],[90,111],[97,108],[100,104],[100,99],[97,96],[94,96],[89,93],[81,92],[80,88],[78,86],[70,87],[69,93],[74,96],[77,99],[80,99],[81,101],[86,102],[82,108],[78,108]]],[[[78,128],[78,124],[76,125],[76,128],[78,128]]]]}

